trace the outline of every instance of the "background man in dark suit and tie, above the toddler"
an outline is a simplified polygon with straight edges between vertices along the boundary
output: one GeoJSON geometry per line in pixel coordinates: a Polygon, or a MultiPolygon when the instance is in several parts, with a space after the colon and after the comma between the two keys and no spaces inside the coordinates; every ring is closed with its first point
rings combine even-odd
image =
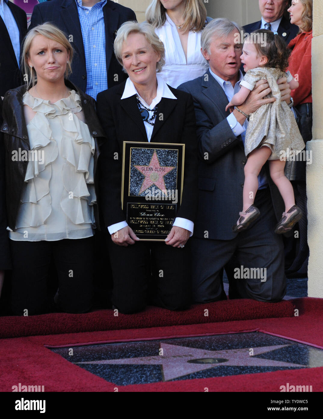
{"type": "Polygon", "coordinates": [[[299,32],[298,26],[292,25],[290,20],[284,16],[288,3],[288,0],[259,0],[261,20],[245,25],[244,32],[250,34],[257,29],[276,31],[288,45],[299,32]]]}

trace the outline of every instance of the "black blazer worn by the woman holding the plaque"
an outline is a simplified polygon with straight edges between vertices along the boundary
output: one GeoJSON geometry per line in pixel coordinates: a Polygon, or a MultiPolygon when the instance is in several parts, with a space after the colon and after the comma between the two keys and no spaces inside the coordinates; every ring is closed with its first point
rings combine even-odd
{"type": "MultiPolygon", "coordinates": [[[[148,141],[136,95],[121,100],[125,83],[97,96],[97,112],[107,137],[99,158],[99,199],[106,227],[126,219],[121,209],[123,142],[148,141]],[[115,159],[114,153],[118,153],[118,159],[115,159]]],[[[194,222],[197,210],[198,161],[193,100],[188,93],[168,87],[177,99],[161,99],[150,141],[185,144],[182,203],[176,216],[194,222]]]]}

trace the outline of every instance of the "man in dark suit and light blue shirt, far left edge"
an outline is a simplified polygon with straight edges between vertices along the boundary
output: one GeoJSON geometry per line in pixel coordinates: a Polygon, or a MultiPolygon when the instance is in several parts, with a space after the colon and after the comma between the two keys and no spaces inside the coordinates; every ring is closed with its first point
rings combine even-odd
{"type": "Polygon", "coordinates": [[[9,0],[0,0],[0,96],[23,84],[19,61],[26,32],[24,10],[9,0]]]}

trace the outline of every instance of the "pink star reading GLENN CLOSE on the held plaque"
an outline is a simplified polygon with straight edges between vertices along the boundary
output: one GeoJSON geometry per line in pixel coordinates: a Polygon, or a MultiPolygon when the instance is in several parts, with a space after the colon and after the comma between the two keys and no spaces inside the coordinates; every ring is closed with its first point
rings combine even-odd
{"type": "Polygon", "coordinates": [[[140,188],[139,195],[142,194],[142,192],[145,192],[146,189],[153,185],[157,186],[158,189],[165,193],[167,189],[164,181],[164,176],[171,170],[175,169],[175,167],[171,166],[160,166],[156,150],[154,150],[153,156],[148,166],[134,165],[134,167],[145,176],[145,179],[142,182],[140,188]]]}

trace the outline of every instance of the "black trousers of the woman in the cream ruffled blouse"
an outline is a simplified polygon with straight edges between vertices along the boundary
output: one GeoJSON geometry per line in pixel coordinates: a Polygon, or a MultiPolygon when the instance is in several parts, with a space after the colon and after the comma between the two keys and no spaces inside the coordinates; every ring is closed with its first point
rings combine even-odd
{"type": "Polygon", "coordinates": [[[92,307],[93,237],[58,241],[10,240],[12,310],[17,316],[46,313],[51,258],[58,274],[58,308],[85,313],[92,307]],[[25,310],[28,312],[25,312],[25,310]]]}

